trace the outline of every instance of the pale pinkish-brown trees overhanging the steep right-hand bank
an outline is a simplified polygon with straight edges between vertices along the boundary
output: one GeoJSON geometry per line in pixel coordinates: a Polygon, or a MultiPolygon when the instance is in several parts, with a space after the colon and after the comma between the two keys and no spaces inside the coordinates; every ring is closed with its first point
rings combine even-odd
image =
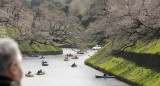
{"type": "Polygon", "coordinates": [[[160,37],[159,10],[159,0],[96,0],[89,10],[95,21],[85,34],[92,40],[117,40],[124,50],[138,40],[160,37]]]}

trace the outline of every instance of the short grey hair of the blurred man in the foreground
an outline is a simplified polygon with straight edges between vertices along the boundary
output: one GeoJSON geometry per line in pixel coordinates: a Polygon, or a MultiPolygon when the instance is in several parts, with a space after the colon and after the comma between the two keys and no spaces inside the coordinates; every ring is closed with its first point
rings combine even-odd
{"type": "Polygon", "coordinates": [[[10,38],[0,39],[0,74],[7,73],[13,61],[21,59],[17,42],[10,38]]]}

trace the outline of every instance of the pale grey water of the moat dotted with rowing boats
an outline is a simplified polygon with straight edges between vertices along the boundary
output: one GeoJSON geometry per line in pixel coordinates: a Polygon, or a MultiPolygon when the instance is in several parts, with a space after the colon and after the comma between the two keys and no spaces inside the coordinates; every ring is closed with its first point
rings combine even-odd
{"type": "Polygon", "coordinates": [[[63,49],[63,55],[48,55],[46,60],[49,66],[41,66],[41,60],[38,58],[24,58],[23,72],[31,71],[35,74],[39,69],[46,72],[46,75],[34,77],[23,77],[22,86],[129,86],[117,79],[96,79],[95,75],[103,73],[84,65],[84,60],[88,55],[93,55],[96,51],[89,50],[87,53],[77,55],[79,59],[63,61],[67,53],[76,55],[71,49],[63,49]],[[71,68],[72,63],[78,67],[71,68]]]}

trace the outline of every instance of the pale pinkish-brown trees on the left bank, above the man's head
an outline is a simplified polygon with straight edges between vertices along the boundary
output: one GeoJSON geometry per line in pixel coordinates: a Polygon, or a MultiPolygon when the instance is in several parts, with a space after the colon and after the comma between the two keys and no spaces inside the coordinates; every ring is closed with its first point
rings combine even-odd
{"type": "Polygon", "coordinates": [[[19,42],[31,40],[32,44],[37,38],[66,41],[76,37],[77,34],[73,34],[72,30],[77,21],[77,17],[66,16],[62,11],[50,9],[46,3],[30,8],[28,1],[9,0],[0,8],[1,25],[16,27],[19,30],[16,40],[19,42]]]}

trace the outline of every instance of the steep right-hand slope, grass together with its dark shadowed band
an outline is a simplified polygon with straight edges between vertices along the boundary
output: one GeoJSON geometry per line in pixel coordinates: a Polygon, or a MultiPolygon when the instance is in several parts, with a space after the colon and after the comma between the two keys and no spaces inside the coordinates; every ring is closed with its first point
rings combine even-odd
{"type": "Polygon", "coordinates": [[[126,79],[129,83],[138,85],[159,86],[159,46],[160,40],[139,41],[124,52],[111,55],[112,43],[110,42],[85,63],[104,69],[122,81],[126,79]]]}

